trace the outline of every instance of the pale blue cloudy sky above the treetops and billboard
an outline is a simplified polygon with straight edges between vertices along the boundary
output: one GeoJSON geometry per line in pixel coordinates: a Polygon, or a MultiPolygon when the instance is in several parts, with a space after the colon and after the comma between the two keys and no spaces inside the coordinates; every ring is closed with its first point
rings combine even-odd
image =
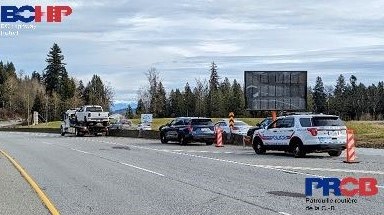
{"type": "MultiPolygon", "coordinates": [[[[307,70],[334,85],[339,74],[364,84],[384,80],[384,1],[2,0],[1,5],[69,5],[62,23],[32,23],[0,37],[0,59],[41,72],[54,42],[67,70],[98,74],[115,100],[132,101],[155,67],[167,89],[219,75],[243,82],[244,70],[307,70]]],[[[0,29],[4,31],[5,29],[0,29]]]]}

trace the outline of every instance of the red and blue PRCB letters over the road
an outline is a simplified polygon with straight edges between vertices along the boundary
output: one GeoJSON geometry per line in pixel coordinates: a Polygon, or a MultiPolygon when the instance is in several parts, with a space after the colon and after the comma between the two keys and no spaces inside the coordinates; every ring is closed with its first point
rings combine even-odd
{"type": "Polygon", "coordinates": [[[329,196],[330,190],[333,190],[335,196],[373,196],[379,190],[375,178],[306,178],[305,195],[312,196],[312,185],[315,183],[315,189],[323,188],[323,196],[329,196]],[[351,188],[353,187],[353,188],[351,188]]]}

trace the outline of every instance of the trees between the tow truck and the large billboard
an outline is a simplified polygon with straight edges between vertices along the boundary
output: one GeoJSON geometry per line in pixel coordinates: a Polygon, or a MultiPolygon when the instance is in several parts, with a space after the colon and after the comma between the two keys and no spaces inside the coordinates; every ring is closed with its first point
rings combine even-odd
{"type": "Polygon", "coordinates": [[[146,73],[147,89],[140,90],[136,112],[128,106],[127,117],[152,113],[154,117],[206,116],[225,117],[233,111],[238,117],[245,116],[243,88],[235,79],[220,81],[215,62],[210,66],[208,81],[196,79],[195,87],[187,82],[184,89],[171,89],[166,92],[159,73],[151,68],[146,73]]]}

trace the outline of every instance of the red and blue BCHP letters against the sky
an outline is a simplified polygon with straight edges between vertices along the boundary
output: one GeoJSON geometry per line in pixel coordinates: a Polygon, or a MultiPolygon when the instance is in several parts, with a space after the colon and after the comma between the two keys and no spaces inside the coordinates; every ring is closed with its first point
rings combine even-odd
{"type": "Polygon", "coordinates": [[[61,22],[62,16],[69,16],[72,14],[70,6],[47,6],[46,12],[43,12],[41,6],[1,6],[1,22],[41,22],[42,17],[46,16],[47,22],[61,22]],[[25,17],[20,15],[24,12],[34,13],[34,16],[25,17]]]}

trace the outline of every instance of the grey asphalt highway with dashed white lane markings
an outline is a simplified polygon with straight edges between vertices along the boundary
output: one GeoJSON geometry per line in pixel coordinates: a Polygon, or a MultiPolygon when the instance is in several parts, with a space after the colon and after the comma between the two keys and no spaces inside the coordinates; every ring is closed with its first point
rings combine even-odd
{"type": "MultiPolygon", "coordinates": [[[[358,149],[361,162],[345,164],[327,154],[293,158],[242,146],[18,132],[0,132],[0,150],[27,170],[61,214],[384,213],[383,150],[358,149]],[[355,203],[307,202],[305,178],[347,176],[376,178],[378,194],[351,197],[355,203]]],[[[321,192],[314,198],[324,199],[321,192]]]]}

